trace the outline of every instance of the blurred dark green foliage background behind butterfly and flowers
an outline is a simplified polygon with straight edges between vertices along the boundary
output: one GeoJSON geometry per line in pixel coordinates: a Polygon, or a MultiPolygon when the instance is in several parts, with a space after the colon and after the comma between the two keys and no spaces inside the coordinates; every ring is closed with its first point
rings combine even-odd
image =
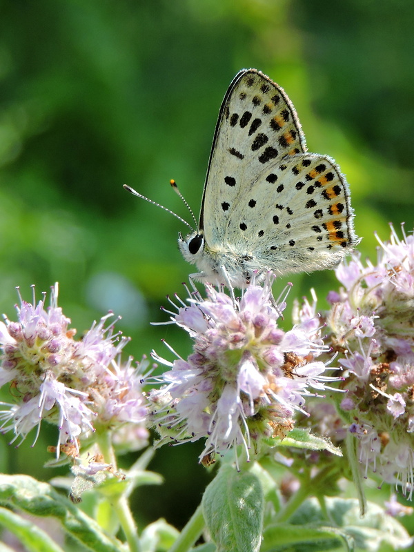
{"type": "MultiPolygon", "coordinates": [[[[165,338],[186,355],[184,333],[150,326],[166,294],[185,295],[186,228],[122,185],[189,219],[174,178],[198,215],[221,99],[248,67],[284,87],[309,150],[341,166],[375,259],[374,230],[413,228],[413,24],[408,0],[0,1],[0,311],[13,319],[15,286],[30,300],[30,284],[40,298],[59,281],[79,334],[112,309],[127,354],[171,358],[165,338]]],[[[331,271],[295,275],[276,296],[287,281],[290,299],[313,286],[322,307],[337,286],[331,271]]],[[[36,451],[32,438],[1,438],[1,471],[56,475],[42,467],[54,433],[36,451]]],[[[137,517],[186,522],[209,477],[201,446],[157,453],[166,484],[137,493],[137,517]]]]}

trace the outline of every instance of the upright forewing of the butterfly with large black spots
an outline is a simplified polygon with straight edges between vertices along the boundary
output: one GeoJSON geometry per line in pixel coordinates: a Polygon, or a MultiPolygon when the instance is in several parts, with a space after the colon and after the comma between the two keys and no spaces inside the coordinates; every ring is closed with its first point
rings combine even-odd
{"type": "Polygon", "coordinates": [[[204,186],[200,228],[208,245],[222,244],[228,221],[259,175],[268,170],[271,181],[275,161],[305,150],[284,90],[257,70],[239,72],[221,104],[204,186]]]}

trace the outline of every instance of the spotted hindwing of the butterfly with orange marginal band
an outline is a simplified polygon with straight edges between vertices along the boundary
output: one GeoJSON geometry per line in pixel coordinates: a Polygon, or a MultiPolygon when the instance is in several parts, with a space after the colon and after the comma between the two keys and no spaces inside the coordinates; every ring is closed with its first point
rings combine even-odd
{"type": "Polygon", "coordinates": [[[335,266],[355,242],[344,177],[332,159],[302,153],[258,175],[228,219],[224,243],[275,273],[335,266]]]}

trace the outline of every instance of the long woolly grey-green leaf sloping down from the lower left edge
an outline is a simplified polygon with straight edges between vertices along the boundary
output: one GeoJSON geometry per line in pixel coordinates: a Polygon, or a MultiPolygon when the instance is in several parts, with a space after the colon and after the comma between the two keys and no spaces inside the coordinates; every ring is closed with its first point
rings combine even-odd
{"type": "Polygon", "coordinates": [[[27,475],[0,474],[0,502],[13,510],[57,517],[66,533],[96,552],[119,552],[122,546],[52,486],[27,475]]]}

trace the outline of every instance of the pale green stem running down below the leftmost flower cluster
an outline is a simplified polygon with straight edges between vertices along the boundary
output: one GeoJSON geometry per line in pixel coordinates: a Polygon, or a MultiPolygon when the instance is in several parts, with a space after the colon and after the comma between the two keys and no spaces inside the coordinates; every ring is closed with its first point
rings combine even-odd
{"type": "MultiPolygon", "coordinates": [[[[110,431],[105,431],[97,435],[97,441],[99,449],[103,455],[103,459],[108,464],[112,464],[113,469],[117,470],[117,458],[115,451],[112,447],[110,431]]],[[[132,517],[128,500],[125,495],[115,495],[110,497],[115,513],[117,514],[119,524],[121,524],[122,530],[128,542],[129,552],[141,552],[141,544],[139,542],[138,530],[135,524],[135,520],[132,517]]]]}

